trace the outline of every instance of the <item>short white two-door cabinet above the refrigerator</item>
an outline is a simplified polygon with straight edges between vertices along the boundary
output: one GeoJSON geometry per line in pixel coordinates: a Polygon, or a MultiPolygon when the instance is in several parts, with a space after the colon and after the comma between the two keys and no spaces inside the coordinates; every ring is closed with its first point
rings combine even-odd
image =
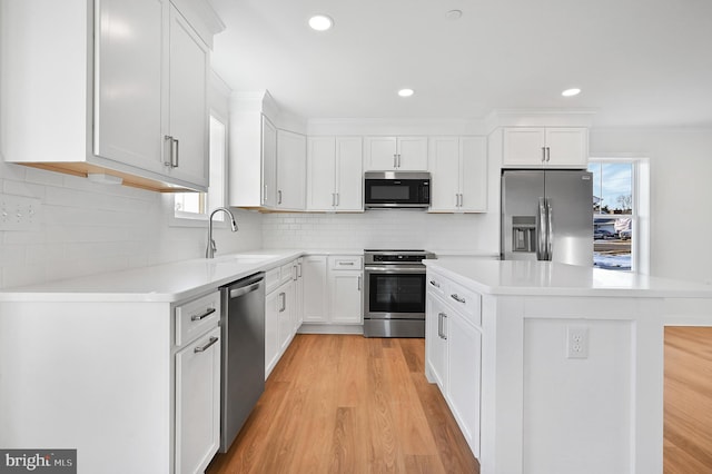
{"type": "Polygon", "coordinates": [[[589,129],[583,127],[505,127],[505,168],[585,168],[589,161],[589,129]]]}

